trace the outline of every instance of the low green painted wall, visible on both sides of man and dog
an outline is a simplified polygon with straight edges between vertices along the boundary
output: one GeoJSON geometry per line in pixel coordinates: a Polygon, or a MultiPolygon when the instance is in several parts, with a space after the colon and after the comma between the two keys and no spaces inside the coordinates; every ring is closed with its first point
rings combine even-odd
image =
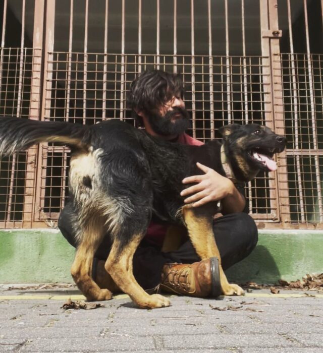
{"type": "MultiPolygon", "coordinates": [[[[323,272],[322,231],[259,231],[254,252],[227,271],[235,282],[275,283],[323,272]]],[[[58,230],[0,231],[0,283],[72,282],[74,248],[58,230]]]]}

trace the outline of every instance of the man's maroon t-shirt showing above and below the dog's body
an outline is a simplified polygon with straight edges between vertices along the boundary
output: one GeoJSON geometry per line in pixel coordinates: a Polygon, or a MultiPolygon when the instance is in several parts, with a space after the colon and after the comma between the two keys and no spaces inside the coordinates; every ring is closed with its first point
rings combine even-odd
{"type": "MultiPolygon", "coordinates": [[[[187,134],[180,135],[177,142],[181,143],[182,145],[191,145],[191,146],[203,145],[203,142],[196,140],[187,134]]],[[[167,228],[168,228],[168,225],[166,224],[158,224],[158,223],[150,222],[145,236],[145,240],[153,245],[157,245],[160,247],[163,246],[167,228]]]]}

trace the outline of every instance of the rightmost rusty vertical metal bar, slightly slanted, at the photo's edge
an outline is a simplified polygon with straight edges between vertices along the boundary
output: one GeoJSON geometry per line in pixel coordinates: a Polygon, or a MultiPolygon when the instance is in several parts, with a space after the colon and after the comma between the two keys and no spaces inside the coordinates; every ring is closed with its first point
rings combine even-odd
{"type": "MultiPolygon", "coordinates": [[[[306,51],[307,51],[307,66],[308,66],[308,82],[309,82],[309,94],[310,94],[310,106],[311,106],[311,123],[312,123],[312,133],[313,133],[313,149],[318,150],[317,144],[317,131],[316,131],[316,121],[315,121],[315,106],[314,106],[314,86],[312,78],[312,63],[311,54],[309,47],[309,33],[308,33],[308,17],[307,17],[307,4],[306,0],[303,0],[304,4],[304,17],[305,17],[305,33],[306,33],[306,51]]],[[[315,162],[315,177],[316,177],[316,188],[317,188],[317,199],[318,199],[318,209],[319,209],[319,221],[323,221],[323,205],[322,205],[322,193],[321,193],[321,183],[319,175],[319,161],[317,153],[314,154],[315,162]]]]}

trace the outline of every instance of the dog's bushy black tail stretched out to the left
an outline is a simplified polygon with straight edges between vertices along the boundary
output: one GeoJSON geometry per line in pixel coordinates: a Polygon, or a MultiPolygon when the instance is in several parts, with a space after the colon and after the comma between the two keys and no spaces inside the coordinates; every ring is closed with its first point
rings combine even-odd
{"type": "Polygon", "coordinates": [[[0,154],[11,155],[40,142],[87,148],[89,129],[85,125],[67,122],[0,117],[0,154]]]}

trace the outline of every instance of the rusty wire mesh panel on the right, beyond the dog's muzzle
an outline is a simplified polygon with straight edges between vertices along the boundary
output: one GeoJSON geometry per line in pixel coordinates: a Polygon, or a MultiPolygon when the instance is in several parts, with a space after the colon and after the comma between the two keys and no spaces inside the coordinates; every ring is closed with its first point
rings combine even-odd
{"type": "Polygon", "coordinates": [[[281,54],[290,217],[322,223],[323,55],[281,54]]]}

